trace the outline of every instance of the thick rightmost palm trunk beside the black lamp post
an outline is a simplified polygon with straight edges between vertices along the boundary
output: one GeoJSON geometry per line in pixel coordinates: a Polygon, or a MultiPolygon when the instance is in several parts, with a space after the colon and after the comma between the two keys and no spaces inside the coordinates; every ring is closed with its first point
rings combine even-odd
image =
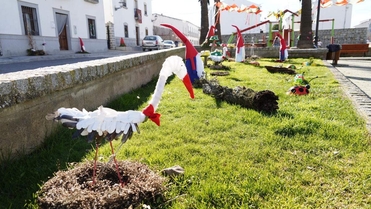
{"type": "Polygon", "coordinates": [[[301,0],[302,14],[300,19],[300,36],[298,41],[299,49],[313,48],[312,33],[312,0],[301,0]]]}

